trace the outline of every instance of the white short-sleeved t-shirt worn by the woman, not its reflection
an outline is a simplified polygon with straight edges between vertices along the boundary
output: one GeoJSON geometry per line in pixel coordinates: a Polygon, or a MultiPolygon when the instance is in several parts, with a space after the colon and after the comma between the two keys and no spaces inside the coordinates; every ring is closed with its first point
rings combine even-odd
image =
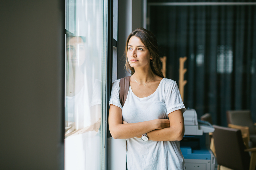
{"type": "MultiPolygon", "coordinates": [[[[137,123],[153,119],[168,119],[168,113],[186,110],[175,81],[163,78],[148,97],[138,98],[133,94],[131,86],[122,108],[119,100],[119,82],[113,82],[109,104],[122,109],[124,121],[137,123]]],[[[128,170],[174,170],[185,169],[184,157],[179,141],[142,141],[140,138],[129,138],[127,141],[128,170]]]]}

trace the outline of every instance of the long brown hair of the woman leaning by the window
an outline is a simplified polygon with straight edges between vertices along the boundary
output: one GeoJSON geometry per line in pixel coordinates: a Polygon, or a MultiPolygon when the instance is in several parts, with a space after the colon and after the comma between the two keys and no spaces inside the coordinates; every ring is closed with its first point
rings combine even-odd
{"type": "Polygon", "coordinates": [[[131,74],[134,74],[134,67],[131,67],[131,65],[128,62],[128,57],[127,57],[127,49],[128,49],[128,43],[129,40],[132,36],[137,37],[138,39],[140,39],[140,41],[146,46],[146,48],[149,50],[150,55],[152,56],[153,61],[150,62],[150,67],[152,69],[152,71],[158,75],[159,77],[163,77],[163,73],[161,71],[161,60],[159,57],[159,50],[158,50],[158,46],[157,46],[157,41],[155,38],[155,35],[144,29],[144,28],[137,28],[135,29],[127,38],[126,40],[126,46],[125,46],[125,52],[124,52],[124,57],[126,60],[125,63],[125,68],[128,72],[130,72],[130,70],[132,71],[131,74]]]}

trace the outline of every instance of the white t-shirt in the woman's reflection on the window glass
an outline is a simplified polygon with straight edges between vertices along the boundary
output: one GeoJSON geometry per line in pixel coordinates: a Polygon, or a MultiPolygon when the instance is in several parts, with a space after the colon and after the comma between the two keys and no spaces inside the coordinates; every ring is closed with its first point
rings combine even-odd
{"type": "MultiPolygon", "coordinates": [[[[66,96],[68,120],[75,123],[76,129],[93,125],[100,118],[100,113],[91,114],[91,107],[97,104],[101,105],[100,80],[94,80],[91,88],[85,83],[73,97],[66,96]]],[[[68,136],[65,138],[65,170],[101,169],[100,153],[101,131],[68,136]]]]}

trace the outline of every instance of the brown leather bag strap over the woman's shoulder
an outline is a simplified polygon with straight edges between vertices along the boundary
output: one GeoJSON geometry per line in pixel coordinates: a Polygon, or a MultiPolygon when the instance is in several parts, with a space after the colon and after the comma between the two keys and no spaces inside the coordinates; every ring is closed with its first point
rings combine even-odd
{"type": "Polygon", "coordinates": [[[119,100],[120,100],[122,107],[124,106],[125,100],[128,95],[128,91],[129,91],[129,87],[130,87],[130,77],[131,76],[127,76],[127,77],[120,79],[119,100]]]}

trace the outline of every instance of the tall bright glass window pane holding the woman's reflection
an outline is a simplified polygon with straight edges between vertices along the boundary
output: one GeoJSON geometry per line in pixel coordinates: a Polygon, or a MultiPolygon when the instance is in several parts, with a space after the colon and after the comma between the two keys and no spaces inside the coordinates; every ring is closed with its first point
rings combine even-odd
{"type": "Polygon", "coordinates": [[[65,169],[101,169],[103,1],[66,6],[65,169]]]}

